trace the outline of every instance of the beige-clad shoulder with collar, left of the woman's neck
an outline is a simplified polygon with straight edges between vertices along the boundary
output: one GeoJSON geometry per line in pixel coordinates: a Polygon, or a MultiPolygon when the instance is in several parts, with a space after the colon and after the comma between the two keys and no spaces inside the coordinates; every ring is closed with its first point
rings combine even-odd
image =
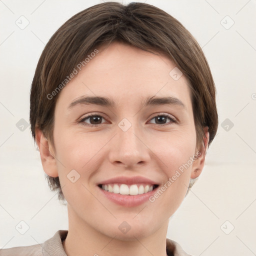
{"type": "Polygon", "coordinates": [[[43,243],[0,249],[0,256],[66,256],[62,240],[66,238],[67,232],[67,230],[58,230],[43,243]]]}

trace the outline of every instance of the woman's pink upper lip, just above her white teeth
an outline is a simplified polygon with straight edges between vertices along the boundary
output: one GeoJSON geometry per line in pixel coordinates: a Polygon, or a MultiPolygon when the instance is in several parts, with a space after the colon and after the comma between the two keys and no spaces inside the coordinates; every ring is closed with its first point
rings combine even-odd
{"type": "Polygon", "coordinates": [[[98,184],[109,184],[109,183],[121,183],[121,184],[136,184],[136,183],[146,183],[157,185],[157,183],[149,178],[145,178],[142,176],[133,176],[133,177],[113,177],[99,182],[98,184]]]}

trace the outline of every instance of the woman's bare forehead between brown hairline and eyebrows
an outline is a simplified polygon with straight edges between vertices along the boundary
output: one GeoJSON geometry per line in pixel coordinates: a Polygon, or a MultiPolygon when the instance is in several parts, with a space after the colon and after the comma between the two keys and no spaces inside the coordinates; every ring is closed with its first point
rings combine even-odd
{"type": "Polygon", "coordinates": [[[167,56],[120,42],[98,51],[61,90],[58,103],[67,107],[86,95],[105,96],[127,105],[156,95],[176,97],[185,106],[191,104],[188,81],[184,75],[173,79],[172,70],[177,67],[167,56]]]}

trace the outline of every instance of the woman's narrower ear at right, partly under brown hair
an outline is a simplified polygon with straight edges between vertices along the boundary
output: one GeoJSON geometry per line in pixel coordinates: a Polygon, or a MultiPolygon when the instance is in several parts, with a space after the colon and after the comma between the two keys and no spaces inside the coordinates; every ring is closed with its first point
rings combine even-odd
{"type": "Polygon", "coordinates": [[[203,130],[205,137],[203,137],[203,143],[201,144],[201,147],[198,148],[198,150],[195,152],[196,158],[194,157],[190,178],[197,178],[202,172],[202,168],[204,166],[206,149],[208,148],[209,143],[208,126],[205,126],[203,130]]]}

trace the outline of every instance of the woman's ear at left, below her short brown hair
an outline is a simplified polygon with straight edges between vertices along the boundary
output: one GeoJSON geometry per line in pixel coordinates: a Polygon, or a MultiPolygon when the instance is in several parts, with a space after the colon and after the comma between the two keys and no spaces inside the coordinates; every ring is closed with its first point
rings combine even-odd
{"type": "Polygon", "coordinates": [[[39,128],[35,129],[35,140],[40,152],[44,172],[51,177],[57,177],[58,172],[53,147],[39,128]]]}

